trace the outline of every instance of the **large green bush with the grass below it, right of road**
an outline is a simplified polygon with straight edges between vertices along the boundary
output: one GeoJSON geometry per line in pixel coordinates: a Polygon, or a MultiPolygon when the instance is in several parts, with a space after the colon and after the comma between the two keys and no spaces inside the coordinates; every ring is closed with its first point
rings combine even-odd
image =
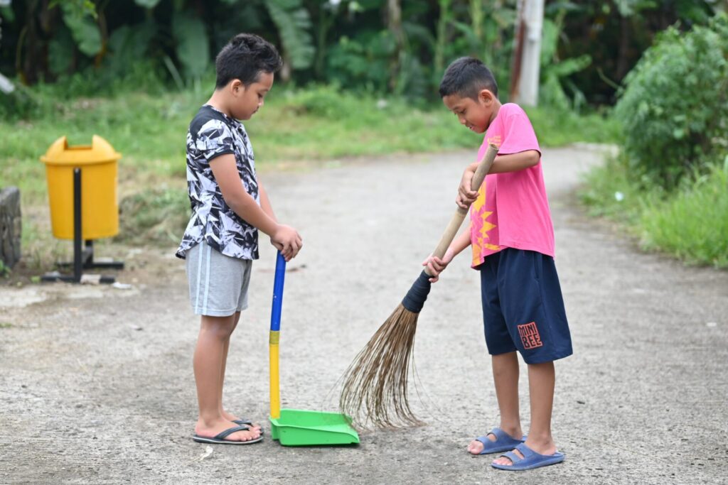
{"type": "Polygon", "coordinates": [[[644,249],[728,268],[728,17],[662,33],[614,110],[622,152],[582,201],[644,249]]]}

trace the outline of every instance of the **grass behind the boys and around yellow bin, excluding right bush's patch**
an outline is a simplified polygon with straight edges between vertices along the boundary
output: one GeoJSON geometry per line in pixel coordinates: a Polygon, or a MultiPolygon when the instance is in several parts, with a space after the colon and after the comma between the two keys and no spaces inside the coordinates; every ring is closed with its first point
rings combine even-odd
{"type": "MultiPolygon", "coordinates": [[[[122,153],[120,233],[114,241],[172,244],[189,211],[187,127],[210,92],[156,87],[69,99],[66,90],[79,92],[79,86],[40,85],[33,90],[36,105],[25,119],[0,120],[0,186],[20,188],[26,264],[42,268],[70,256],[70,245],[50,236],[44,165],[39,161],[63,135],[69,145],[87,145],[92,135],[100,135],[122,153]]],[[[613,121],[596,114],[534,108],[529,116],[543,146],[610,142],[616,133],[613,121]]],[[[464,129],[439,103],[413,104],[325,86],[275,87],[264,109],[245,127],[258,167],[397,152],[475,151],[482,141],[482,135],[464,129]]]]}

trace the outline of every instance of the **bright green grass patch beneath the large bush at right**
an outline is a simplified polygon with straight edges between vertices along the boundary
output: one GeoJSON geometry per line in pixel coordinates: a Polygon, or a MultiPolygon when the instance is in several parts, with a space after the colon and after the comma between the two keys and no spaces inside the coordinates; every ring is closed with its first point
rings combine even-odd
{"type": "Polygon", "coordinates": [[[626,167],[612,159],[587,175],[579,196],[591,215],[617,221],[642,249],[728,268],[728,167],[716,165],[673,192],[635,180],[626,167]]]}

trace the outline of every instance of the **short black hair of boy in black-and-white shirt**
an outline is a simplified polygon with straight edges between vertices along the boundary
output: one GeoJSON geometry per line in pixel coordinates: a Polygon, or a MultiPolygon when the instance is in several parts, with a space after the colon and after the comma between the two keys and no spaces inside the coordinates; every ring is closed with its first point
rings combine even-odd
{"type": "Polygon", "coordinates": [[[275,73],[282,65],[280,54],[269,41],[254,33],[239,33],[215,57],[218,74],[215,89],[226,86],[233,79],[240,79],[248,87],[258,81],[261,73],[275,73]]]}

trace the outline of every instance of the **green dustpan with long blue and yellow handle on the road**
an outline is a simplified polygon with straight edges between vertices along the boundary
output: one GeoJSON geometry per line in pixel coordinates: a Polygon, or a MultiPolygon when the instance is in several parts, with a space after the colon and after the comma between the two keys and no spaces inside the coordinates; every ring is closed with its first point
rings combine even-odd
{"type": "Polygon", "coordinates": [[[275,265],[273,284],[273,309],[271,311],[270,390],[271,390],[271,437],[285,446],[315,446],[359,443],[359,435],[352,428],[352,419],[338,412],[280,409],[280,385],[278,382],[278,342],[280,340],[280,315],[283,304],[283,280],[285,259],[280,252],[275,265]]]}

